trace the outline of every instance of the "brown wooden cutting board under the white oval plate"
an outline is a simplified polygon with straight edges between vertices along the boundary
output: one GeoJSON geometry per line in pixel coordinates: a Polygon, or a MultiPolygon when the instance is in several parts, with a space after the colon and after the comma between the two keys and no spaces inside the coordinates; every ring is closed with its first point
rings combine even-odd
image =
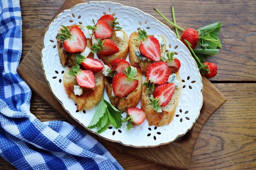
{"type": "MultiPolygon", "coordinates": [[[[75,4],[83,2],[85,1],[66,0],[62,7],[55,14],[55,16],[52,18],[52,20],[56,17],[56,15],[58,15],[58,13],[61,13],[63,10],[70,9],[75,4]]],[[[130,6],[132,6],[132,4],[130,4],[130,6]]],[[[108,146],[112,146],[131,155],[135,155],[149,161],[161,163],[166,166],[179,169],[189,169],[192,152],[200,131],[202,130],[207,120],[211,117],[211,115],[227,101],[227,99],[216,89],[215,86],[213,86],[213,84],[211,84],[211,82],[209,82],[208,79],[203,77],[204,104],[200,117],[194,124],[193,128],[187,132],[184,137],[178,138],[171,144],[166,144],[155,148],[132,148],[123,146],[119,143],[102,139],[101,137],[83,128],[83,126],[81,126],[78,122],[72,119],[72,117],[70,117],[70,115],[63,109],[54,95],[52,95],[49,85],[45,80],[41,64],[41,50],[43,49],[42,43],[45,31],[46,29],[40,35],[40,38],[38,38],[35,44],[31,47],[30,51],[22,60],[17,70],[19,75],[25,80],[25,82],[27,82],[27,84],[34,92],[40,95],[47,103],[49,103],[49,105],[51,105],[60,114],[62,114],[71,124],[74,124],[79,129],[89,133],[94,138],[98,139],[103,145],[107,144],[108,146]]]]}

